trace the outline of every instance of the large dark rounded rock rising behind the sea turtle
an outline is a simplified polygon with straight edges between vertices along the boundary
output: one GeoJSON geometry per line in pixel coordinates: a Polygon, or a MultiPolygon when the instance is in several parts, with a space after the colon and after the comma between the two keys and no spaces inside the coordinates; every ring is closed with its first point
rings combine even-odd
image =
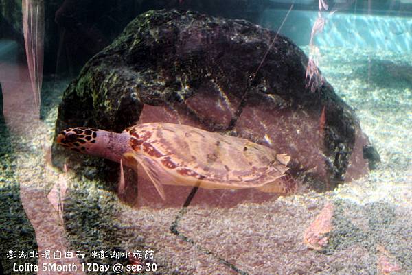
{"type": "Polygon", "coordinates": [[[76,125],[117,132],[137,122],[194,125],[288,153],[293,176],[328,189],[367,173],[369,141],[328,82],[306,88],[307,64],[288,38],[247,21],[150,11],[69,85],[56,133],[76,125]]]}

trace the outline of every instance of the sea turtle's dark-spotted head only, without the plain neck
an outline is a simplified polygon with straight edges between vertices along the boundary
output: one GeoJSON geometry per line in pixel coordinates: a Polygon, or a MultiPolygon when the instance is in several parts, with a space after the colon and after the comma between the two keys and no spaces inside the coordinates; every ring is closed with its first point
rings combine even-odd
{"type": "Polygon", "coordinates": [[[79,153],[93,154],[99,131],[95,128],[68,128],[58,134],[57,143],[79,153]]]}

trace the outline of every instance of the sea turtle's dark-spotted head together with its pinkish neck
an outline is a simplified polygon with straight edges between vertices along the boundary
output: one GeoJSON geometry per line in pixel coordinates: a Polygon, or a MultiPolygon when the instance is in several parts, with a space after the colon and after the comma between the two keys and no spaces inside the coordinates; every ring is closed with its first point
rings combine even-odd
{"type": "Polygon", "coordinates": [[[118,134],[95,128],[68,128],[57,136],[57,143],[67,149],[120,161],[123,154],[130,150],[128,133],[118,134]]]}

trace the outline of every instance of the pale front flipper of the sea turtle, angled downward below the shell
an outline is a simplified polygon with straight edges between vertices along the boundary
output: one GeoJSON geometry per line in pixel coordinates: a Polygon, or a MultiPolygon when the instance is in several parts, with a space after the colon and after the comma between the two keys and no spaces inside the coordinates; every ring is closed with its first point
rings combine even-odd
{"type": "Polygon", "coordinates": [[[174,180],[165,172],[161,165],[147,156],[136,154],[134,152],[125,153],[123,156],[126,158],[129,165],[135,169],[135,171],[137,171],[137,166],[139,164],[143,167],[153,185],[155,185],[155,188],[161,198],[166,200],[165,191],[163,190],[163,184],[161,182],[174,182],[174,180]]]}

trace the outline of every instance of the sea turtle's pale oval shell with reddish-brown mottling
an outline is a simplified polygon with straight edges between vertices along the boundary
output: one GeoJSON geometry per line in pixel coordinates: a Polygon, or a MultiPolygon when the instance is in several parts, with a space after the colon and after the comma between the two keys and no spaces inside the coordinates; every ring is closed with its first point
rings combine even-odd
{"type": "Polygon", "coordinates": [[[127,128],[126,132],[133,149],[126,158],[142,165],[155,186],[263,187],[275,184],[288,170],[290,157],[286,154],[276,154],[247,139],[189,125],[144,123],[127,128]]]}

